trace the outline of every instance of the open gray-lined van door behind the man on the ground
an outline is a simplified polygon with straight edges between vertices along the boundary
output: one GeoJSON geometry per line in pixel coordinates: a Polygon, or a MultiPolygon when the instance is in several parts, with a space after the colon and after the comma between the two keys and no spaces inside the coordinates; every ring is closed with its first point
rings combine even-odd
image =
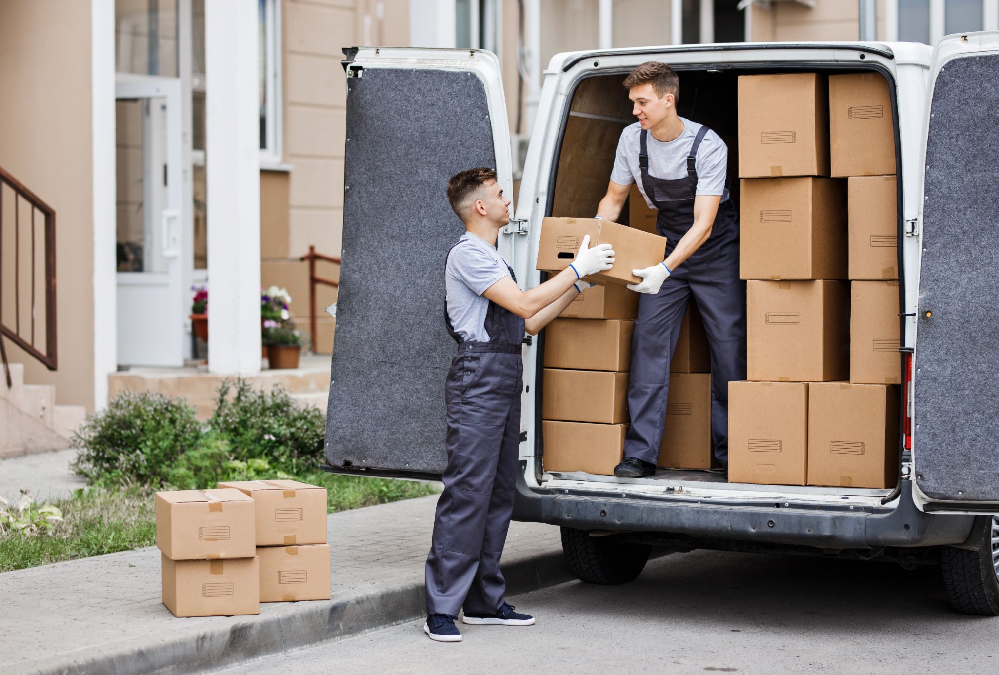
{"type": "Polygon", "coordinates": [[[465,233],[446,191],[452,175],[494,167],[512,195],[500,62],[469,49],[345,54],[343,263],[325,468],[440,478],[456,351],[444,266],[465,233]]]}

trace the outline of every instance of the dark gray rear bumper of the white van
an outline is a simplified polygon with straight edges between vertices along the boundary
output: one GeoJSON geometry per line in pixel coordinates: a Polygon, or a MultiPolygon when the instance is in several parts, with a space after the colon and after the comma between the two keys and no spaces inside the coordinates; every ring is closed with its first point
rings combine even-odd
{"type": "Polygon", "coordinates": [[[971,532],[973,515],[924,513],[902,481],[898,504],[891,508],[758,503],[703,503],[679,496],[651,498],[573,489],[557,492],[526,485],[517,478],[513,519],[587,530],[672,532],[691,537],[738,539],[823,549],[961,544],[971,532]]]}

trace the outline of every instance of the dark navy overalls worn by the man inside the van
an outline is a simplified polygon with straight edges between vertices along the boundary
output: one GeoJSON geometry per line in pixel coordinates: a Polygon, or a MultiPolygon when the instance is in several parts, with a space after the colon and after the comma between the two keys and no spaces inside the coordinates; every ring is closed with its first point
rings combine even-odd
{"type": "MultiPolygon", "coordinates": [[[[648,174],[648,132],[641,132],[638,165],[641,185],[659,210],[655,229],[666,237],[668,257],[693,225],[697,189],[697,149],[707,133],[701,127],[687,155],[687,176],[664,180],[648,174]]],[[[746,377],[746,294],[739,280],[739,226],[732,200],[718,206],[711,236],[673,270],[655,295],[638,299],[631,339],[627,404],[631,415],[624,456],[655,462],[666,422],[669,359],[693,295],[711,347],[711,443],[721,466],[728,463],[728,382],[746,377]]]]}

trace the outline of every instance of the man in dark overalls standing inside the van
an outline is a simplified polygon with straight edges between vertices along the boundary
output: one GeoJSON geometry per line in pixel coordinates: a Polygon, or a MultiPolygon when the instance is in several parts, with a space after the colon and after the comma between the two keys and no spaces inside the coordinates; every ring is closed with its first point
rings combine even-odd
{"type": "Polygon", "coordinates": [[[664,260],[633,274],[641,293],[631,341],[627,402],[631,416],[620,477],[650,476],[666,423],[669,359],[691,296],[711,347],[711,442],[728,463],[728,382],[746,376],[745,283],[739,280],[739,226],[725,187],[728,149],[717,134],[676,113],[679,78],[649,61],[624,80],[635,124],[617,143],[607,193],[596,218],[615,220],[632,183],[658,210],[668,239],[664,260]]]}

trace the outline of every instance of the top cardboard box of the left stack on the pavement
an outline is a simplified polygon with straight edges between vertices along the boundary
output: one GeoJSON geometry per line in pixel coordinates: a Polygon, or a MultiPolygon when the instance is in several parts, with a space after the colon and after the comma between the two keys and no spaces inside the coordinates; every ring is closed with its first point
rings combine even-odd
{"type": "Polygon", "coordinates": [[[156,545],[172,560],[252,558],[253,499],[239,490],[156,493],[156,545]]]}

